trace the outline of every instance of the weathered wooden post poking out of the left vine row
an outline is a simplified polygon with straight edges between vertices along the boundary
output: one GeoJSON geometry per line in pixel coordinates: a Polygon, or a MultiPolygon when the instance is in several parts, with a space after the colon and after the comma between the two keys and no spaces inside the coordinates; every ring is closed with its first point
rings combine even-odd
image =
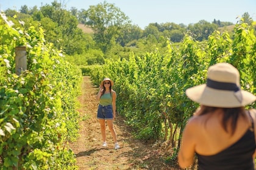
{"type": "Polygon", "coordinates": [[[20,46],[15,48],[15,71],[20,75],[22,71],[27,69],[26,47],[20,46]]]}

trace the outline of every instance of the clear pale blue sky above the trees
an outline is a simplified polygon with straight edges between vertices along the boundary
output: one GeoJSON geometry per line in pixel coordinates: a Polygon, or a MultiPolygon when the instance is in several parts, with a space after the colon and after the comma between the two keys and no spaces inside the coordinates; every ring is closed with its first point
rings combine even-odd
{"type": "MultiPolygon", "coordinates": [[[[54,0],[0,0],[0,10],[20,10],[22,5],[32,8],[35,5],[51,4],[54,0]]],[[[90,5],[97,5],[104,0],[57,0],[66,5],[66,9],[76,7],[87,10],[90,5]]],[[[245,12],[256,21],[256,0],[107,0],[115,4],[132,21],[144,29],[149,23],[174,22],[185,25],[202,19],[229,21],[234,24],[245,12]]]]}

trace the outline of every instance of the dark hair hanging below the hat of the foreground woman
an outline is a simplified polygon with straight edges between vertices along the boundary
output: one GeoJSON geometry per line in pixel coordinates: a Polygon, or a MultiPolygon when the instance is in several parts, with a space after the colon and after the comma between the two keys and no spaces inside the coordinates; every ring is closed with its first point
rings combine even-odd
{"type": "MultiPolygon", "coordinates": [[[[210,107],[210,106],[203,106],[202,112],[200,115],[206,115],[211,112],[215,112],[215,110],[220,109],[219,107],[210,107]]],[[[231,121],[231,135],[235,133],[236,123],[240,115],[245,118],[246,117],[246,110],[244,107],[233,107],[233,108],[221,108],[224,112],[222,117],[221,126],[223,127],[224,131],[228,132],[227,124],[231,121]]]]}

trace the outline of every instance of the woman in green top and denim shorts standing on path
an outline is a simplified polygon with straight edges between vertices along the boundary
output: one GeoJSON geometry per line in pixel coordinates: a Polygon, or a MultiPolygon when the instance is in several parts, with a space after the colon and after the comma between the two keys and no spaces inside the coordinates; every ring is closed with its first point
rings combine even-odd
{"type": "Polygon", "coordinates": [[[112,89],[114,83],[110,78],[104,78],[99,86],[97,100],[99,100],[97,118],[101,124],[101,135],[103,144],[107,147],[105,121],[107,121],[108,129],[110,130],[115,142],[115,149],[119,149],[119,144],[116,139],[116,131],[114,129],[113,120],[116,117],[116,92],[112,89]]]}

